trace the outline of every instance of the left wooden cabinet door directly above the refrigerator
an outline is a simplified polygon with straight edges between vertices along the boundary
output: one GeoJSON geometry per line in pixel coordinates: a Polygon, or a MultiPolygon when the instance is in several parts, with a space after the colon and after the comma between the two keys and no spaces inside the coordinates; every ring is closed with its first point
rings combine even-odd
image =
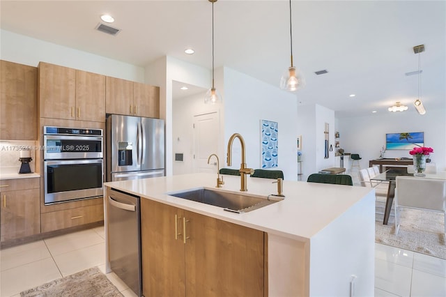
{"type": "Polygon", "coordinates": [[[133,115],[133,82],[115,77],[105,80],[107,114],[133,115]]]}

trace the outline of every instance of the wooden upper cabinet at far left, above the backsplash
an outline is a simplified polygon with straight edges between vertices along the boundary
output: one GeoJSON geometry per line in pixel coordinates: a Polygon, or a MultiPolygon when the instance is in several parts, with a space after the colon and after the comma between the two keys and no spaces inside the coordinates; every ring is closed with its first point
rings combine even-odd
{"type": "Polygon", "coordinates": [[[37,139],[37,68],[0,61],[0,139],[37,139]]]}

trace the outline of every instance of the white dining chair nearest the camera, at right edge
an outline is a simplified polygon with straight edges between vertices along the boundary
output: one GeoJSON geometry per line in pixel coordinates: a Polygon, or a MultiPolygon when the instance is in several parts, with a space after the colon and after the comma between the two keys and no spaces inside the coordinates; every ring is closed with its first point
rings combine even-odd
{"type": "Polygon", "coordinates": [[[401,208],[437,211],[444,215],[446,235],[446,181],[414,176],[397,176],[394,197],[395,234],[401,224],[401,208]]]}

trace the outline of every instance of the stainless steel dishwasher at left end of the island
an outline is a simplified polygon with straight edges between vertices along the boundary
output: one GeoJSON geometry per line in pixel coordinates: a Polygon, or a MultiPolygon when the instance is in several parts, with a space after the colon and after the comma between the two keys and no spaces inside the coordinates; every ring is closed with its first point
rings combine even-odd
{"type": "Polygon", "coordinates": [[[140,197],[114,188],[109,190],[110,268],[134,294],[142,296],[140,197]]]}

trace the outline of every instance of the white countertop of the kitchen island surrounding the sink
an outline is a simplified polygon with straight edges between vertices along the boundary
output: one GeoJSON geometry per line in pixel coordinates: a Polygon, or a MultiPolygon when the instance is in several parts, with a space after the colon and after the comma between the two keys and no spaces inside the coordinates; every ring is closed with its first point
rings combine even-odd
{"type": "MultiPolygon", "coordinates": [[[[201,187],[215,189],[216,179],[217,174],[185,174],[115,181],[105,183],[105,185],[187,211],[299,241],[308,241],[374,190],[348,185],[284,181],[283,194],[286,197],[283,201],[240,214],[166,194],[201,187]]],[[[224,175],[225,184],[221,190],[267,197],[277,193],[277,184],[272,181],[274,180],[249,177],[247,178],[248,191],[240,192],[240,176],[224,175]]]]}

